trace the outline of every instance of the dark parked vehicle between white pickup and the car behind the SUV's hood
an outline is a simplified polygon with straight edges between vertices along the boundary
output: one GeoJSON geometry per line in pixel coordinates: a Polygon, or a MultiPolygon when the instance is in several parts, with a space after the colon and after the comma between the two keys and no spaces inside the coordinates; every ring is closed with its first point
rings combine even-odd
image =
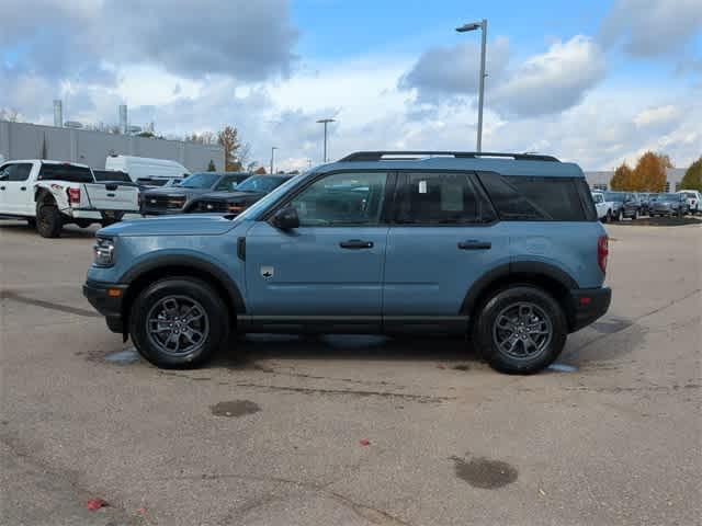
{"type": "Polygon", "coordinates": [[[162,216],[191,211],[193,199],[213,191],[233,190],[250,173],[200,172],[193,173],[178,185],[152,188],[141,194],[141,214],[162,216]]]}

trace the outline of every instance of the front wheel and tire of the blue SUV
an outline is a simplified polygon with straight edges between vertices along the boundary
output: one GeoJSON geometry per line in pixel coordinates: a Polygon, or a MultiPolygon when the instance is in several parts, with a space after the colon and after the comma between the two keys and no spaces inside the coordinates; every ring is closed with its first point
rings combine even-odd
{"type": "Polygon", "coordinates": [[[228,320],[226,305],[210,285],[190,277],[167,277],[135,299],[129,335],[141,356],[154,365],[191,368],[207,362],[219,348],[228,333],[228,320]],[[199,316],[186,322],[188,313],[199,316]],[[149,328],[159,331],[149,334],[149,328]]]}

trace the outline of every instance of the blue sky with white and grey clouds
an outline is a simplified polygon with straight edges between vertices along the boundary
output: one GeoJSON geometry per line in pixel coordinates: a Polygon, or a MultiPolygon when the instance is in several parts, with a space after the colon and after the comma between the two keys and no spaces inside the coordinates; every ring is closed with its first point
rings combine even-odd
{"type": "Polygon", "coordinates": [[[702,0],[2,0],[0,110],[165,136],[236,126],[292,170],[364,149],[483,149],[609,170],[702,155],[702,0]]]}

